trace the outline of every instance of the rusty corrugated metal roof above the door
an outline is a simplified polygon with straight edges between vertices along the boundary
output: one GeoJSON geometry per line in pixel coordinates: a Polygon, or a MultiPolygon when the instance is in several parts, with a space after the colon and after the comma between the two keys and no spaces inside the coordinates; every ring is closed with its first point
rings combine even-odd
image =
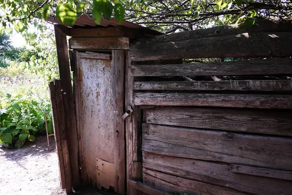
{"type": "MultiPolygon", "coordinates": [[[[52,22],[52,23],[56,23],[56,24],[62,24],[64,25],[61,21],[57,20],[56,18],[52,18],[49,17],[47,19],[48,21],[52,22]]],[[[66,26],[66,25],[64,25],[66,26]]],[[[132,28],[132,29],[137,29],[137,30],[144,30],[147,32],[151,32],[153,34],[157,34],[157,35],[163,35],[164,33],[158,32],[156,30],[147,28],[145,26],[141,26],[129,21],[124,20],[122,23],[119,23],[116,19],[112,18],[110,20],[104,20],[102,18],[100,25],[97,25],[93,18],[88,15],[88,14],[82,14],[76,21],[75,24],[73,26],[69,26],[72,28],[101,28],[101,27],[112,27],[112,26],[125,26],[128,28],[132,28]]]]}

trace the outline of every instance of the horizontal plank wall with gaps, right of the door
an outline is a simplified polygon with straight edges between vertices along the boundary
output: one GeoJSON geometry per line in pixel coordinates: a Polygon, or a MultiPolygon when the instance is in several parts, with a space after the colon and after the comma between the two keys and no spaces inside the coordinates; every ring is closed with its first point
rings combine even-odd
{"type": "Polygon", "coordinates": [[[130,45],[133,104],[141,110],[130,138],[139,159],[141,127],[143,179],[130,178],[130,188],[292,194],[292,29],[220,29],[130,45]],[[196,58],[212,62],[147,61],[196,58]]]}

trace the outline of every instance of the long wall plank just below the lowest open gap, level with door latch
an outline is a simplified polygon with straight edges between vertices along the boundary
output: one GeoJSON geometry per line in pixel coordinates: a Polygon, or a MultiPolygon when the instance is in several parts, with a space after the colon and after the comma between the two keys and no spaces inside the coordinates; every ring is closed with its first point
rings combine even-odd
{"type": "Polygon", "coordinates": [[[135,105],[292,108],[292,95],[135,93],[135,105]]]}

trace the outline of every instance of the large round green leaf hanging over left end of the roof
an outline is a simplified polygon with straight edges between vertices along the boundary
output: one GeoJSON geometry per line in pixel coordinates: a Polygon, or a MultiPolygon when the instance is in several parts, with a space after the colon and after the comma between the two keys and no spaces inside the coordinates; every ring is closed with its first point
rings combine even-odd
{"type": "Polygon", "coordinates": [[[56,17],[63,24],[74,25],[77,20],[76,10],[70,3],[60,3],[56,8],[56,17]]]}

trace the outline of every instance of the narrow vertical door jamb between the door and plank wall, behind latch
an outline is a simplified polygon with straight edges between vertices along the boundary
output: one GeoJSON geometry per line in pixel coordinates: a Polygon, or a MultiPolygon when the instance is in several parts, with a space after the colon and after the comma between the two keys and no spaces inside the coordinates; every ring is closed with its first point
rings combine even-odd
{"type": "Polygon", "coordinates": [[[129,52],[128,50],[125,51],[125,61],[126,61],[126,82],[125,82],[125,102],[127,106],[132,106],[133,112],[126,118],[126,157],[127,157],[127,194],[128,195],[141,195],[141,192],[138,191],[137,189],[131,187],[128,183],[129,179],[134,179],[138,181],[142,181],[142,163],[137,162],[137,156],[136,153],[134,153],[134,147],[133,147],[133,142],[134,142],[134,137],[133,134],[134,131],[138,131],[137,122],[133,121],[138,121],[138,116],[137,112],[135,109],[135,106],[133,105],[133,78],[131,74],[131,59],[129,58],[129,52]]]}

